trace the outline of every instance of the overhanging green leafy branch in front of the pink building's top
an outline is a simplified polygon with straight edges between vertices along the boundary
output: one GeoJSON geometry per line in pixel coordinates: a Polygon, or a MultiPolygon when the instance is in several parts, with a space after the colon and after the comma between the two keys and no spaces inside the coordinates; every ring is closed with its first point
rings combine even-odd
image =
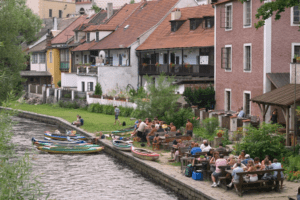
{"type": "MultiPolygon", "coordinates": [[[[248,0],[239,0],[244,3],[248,0]]],[[[258,0],[255,0],[258,1],[258,0]]],[[[260,0],[264,2],[264,0],[260,0]]],[[[260,19],[254,24],[255,28],[260,28],[265,25],[265,20],[273,16],[275,13],[275,20],[279,20],[281,13],[285,11],[286,8],[291,8],[299,5],[299,0],[275,0],[271,2],[265,2],[262,6],[257,9],[255,17],[260,19]]]]}

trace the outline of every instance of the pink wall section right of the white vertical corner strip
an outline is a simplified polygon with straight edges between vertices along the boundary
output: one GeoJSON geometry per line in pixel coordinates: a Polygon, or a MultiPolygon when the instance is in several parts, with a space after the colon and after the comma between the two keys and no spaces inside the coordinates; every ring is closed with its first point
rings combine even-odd
{"type": "Polygon", "coordinates": [[[298,43],[300,46],[299,24],[293,24],[292,10],[293,8],[287,8],[278,21],[272,17],[272,73],[289,72],[289,63],[294,57],[292,43],[298,43]]]}

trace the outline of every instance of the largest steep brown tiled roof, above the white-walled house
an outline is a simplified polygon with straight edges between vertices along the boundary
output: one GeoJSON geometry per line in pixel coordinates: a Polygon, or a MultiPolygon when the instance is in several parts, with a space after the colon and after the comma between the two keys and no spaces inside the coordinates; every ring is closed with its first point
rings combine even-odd
{"type": "MultiPolygon", "coordinates": [[[[138,6],[127,19],[125,18],[115,32],[99,41],[90,49],[118,49],[129,47],[140,35],[156,25],[177,2],[178,0],[159,0],[130,4],[132,6],[138,6]],[[124,27],[128,28],[124,29],[124,27]]],[[[112,22],[113,19],[108,24],[112,22]]]]}

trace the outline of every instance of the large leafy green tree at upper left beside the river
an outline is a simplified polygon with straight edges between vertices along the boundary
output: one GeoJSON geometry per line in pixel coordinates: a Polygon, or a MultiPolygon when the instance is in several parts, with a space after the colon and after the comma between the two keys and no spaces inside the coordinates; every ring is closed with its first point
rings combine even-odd
{"type": "Polygon", "coordinates": [[[26,68],[21,43],[34,41],[42,24],[25,3],[25,0],[0,1],[0,74],[9,80],[1,81],[0,104],[11,91],[21,94],[20,71],[26,68]]]}

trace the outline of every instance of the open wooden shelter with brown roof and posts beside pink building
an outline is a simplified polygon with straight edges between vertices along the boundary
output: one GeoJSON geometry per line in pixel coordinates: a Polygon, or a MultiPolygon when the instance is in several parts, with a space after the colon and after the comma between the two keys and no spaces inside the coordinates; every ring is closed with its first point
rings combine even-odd
{"type": "Polygon", "coordinates": [[[281,108],[286,122],[286,145],[288,146],[288,144],[290,144],[290,107],[294,105],[295,100],[296,103],[300,101],[300,84],[296,84],[296,86],[295,84],[288,84],[265,94],[256,96],[250,100],[258,104],[264,122],[266,120],[266,113],[270,106],[278,106],[281,108]]]}

